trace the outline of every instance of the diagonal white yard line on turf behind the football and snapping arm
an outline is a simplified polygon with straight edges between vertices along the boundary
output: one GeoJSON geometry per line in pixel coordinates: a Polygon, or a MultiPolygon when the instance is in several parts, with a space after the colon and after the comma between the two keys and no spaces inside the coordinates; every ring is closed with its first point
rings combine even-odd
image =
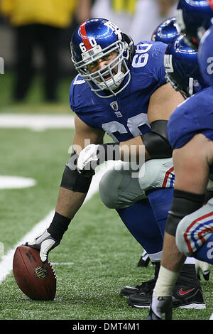
{"type": "MultiPolygon", "coordinates": [[[[87,193],[87,197],[85,198],[85,202],[87,200],[90,200],[92,196],[97,193],[98,187],[99,187],[99,181],[101,180],[103,174],[106,172],[107,169],[111,168],[111,166],[114,166],[113,161],[108,161],[108,163],[102,168],[100,168],[97,173],[92,178],[92,183],[89,188],[89,192],[87,193]]],[[[17,242],[17,244],[11,249],[7,254],[5,254],[0,262],[0,284],[1,282],[6,279],[6,276],[11,273],[12,267],[13,267],[13,255],[16,251],[16,247],[20,246],[21,244],[24,244],[25,242],[28,242],[29,240],[32,240],[34,237],[39,235],[40,232],[43,232],[45,228],[47,228],[50,225],[50,222],[53,218],[53,215],[55,213],[55,210],[51,210],[48,215],[38,222],[38,224],[33,227],[33,230],[28,232],[21,240],[17,242]]]]}

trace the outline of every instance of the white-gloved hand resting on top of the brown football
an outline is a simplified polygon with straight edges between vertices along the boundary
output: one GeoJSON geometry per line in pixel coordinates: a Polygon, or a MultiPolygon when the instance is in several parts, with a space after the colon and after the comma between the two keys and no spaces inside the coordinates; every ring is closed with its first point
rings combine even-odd
{"type": "Polygon", "coordinates": [[[48,259],[50,250],[57,247],[58,244],[60,244],[60,241],[54,239],[50,233],[45,230],[42,235],[35,237],[31,242],[26,242],[25,245],[40,250],[40,259],[42,262],[45,262],[46,259],[48,259]]]}

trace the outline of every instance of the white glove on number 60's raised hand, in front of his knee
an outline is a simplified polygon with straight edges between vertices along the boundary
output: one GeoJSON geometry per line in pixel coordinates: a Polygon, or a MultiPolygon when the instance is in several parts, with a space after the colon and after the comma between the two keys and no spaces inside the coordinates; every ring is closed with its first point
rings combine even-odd
{"type": "Polygon", "coordinates": [[[80,173],[82,171],[94,172],[94,168],[97,166],[97,161],[99,160],[97,156],[98,147],[99,145],[90,144],[82,149],[77,159],[77,170],[80,173]]]}

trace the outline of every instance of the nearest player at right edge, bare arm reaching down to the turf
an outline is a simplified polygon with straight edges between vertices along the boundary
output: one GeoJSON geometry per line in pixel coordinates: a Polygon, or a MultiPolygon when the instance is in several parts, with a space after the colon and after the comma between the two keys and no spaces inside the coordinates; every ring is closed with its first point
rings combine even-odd
{"type": "MultiPolygon", "coordinates": [[[[194,50],[199,47],[200,38],[210,26],[212,16],[213,11],[207,1],[179,1],[177,21],[180,33],[185,33],[185,42],[194,50]]],[[[172,318],[173,286],[186,255],[213,263],[212,199],[204,205],[213,163],[212,105],[212,87],[204,88],[180,104],[168,122],[175,190],[148,316],[151,320],[163,319],[163,313],[165,319],[172,318]]]]}

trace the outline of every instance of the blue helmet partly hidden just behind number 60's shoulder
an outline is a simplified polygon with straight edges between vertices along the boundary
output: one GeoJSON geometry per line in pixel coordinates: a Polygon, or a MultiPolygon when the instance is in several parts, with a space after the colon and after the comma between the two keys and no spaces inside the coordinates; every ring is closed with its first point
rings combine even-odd
{"type": "Polygon", "coordinates": [[[176,18],[167,18],[165,21],[159,24],[153,31],[151,41],[163,42],[165,44],[173,41],[173,38],[178,35],[176,18]]]}

